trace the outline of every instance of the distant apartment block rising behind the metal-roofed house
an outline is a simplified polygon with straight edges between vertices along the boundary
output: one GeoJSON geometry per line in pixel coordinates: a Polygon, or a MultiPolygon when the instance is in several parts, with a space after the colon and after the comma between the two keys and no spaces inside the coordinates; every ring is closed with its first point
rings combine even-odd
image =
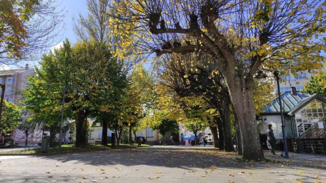
{"type": "MultiPolygon", "coordinates": [[[[304,89],[304,85],[310,81],[311,77],[314,75],[313,73],[309,73],[308,71],[298,72],[297,76],[293,74],[288,74],[281,78],[280,82],[280,90],[283,92],[291,92],[291,87],[295,87],[297,91],[302,91],[304,89]]],[[[275,90],[277,91],[277,83],[275,81],[275,90]]]]}

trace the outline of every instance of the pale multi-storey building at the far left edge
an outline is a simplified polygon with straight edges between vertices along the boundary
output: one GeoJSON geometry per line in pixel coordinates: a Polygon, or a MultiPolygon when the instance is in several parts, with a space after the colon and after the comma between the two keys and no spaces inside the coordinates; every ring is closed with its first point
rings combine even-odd
{"type": "MultiPolygon", "coordinates": [[[[11,69],[0,71],[0,83],[6,85],[4,100],[19,104],[21,100],[20,91],[25,89],[29,83],[27,76],[35,72],[34,68],[29,68],[26,64],[24,69],[11,69]]],[[[0,94],[2,88],[0,88],[0,94]]]]}

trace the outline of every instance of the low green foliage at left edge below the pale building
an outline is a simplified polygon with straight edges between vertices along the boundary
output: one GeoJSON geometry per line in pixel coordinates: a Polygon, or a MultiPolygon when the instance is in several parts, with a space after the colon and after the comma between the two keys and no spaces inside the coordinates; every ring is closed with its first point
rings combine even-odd
{"type": "Polygon", "coordinates": [[[17,128],[21,121],[21,112],[15,104],[4,101],[3,113],[0,121],[0,134],[9,133],[17,128]]]}

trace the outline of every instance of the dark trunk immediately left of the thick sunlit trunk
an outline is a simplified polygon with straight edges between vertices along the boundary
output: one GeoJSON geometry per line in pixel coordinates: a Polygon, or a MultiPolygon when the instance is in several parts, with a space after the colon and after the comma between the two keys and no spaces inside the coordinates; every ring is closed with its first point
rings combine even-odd
{"type": "Polygon", "coordinates": [[[231,152],[234,151],[234,146],[231,133],[230,105],[221,100],[220,107],[219,112],[222,120],[225,151],[231,152]]]}

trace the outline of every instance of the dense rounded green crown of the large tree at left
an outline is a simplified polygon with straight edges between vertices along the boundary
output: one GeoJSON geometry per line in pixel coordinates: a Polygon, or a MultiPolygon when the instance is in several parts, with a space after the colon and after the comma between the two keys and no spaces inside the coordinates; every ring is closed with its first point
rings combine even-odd
{"type": "Polygon", "coordinates": [[[40,65],[22,94],[26,109],[46,126],[60,121],[64,87],[65,119],[82,110],[98,116],[121,107],[126,77],[104,44],[83,41],[71,47],[66,40],[44,55],[40,65]]]}

